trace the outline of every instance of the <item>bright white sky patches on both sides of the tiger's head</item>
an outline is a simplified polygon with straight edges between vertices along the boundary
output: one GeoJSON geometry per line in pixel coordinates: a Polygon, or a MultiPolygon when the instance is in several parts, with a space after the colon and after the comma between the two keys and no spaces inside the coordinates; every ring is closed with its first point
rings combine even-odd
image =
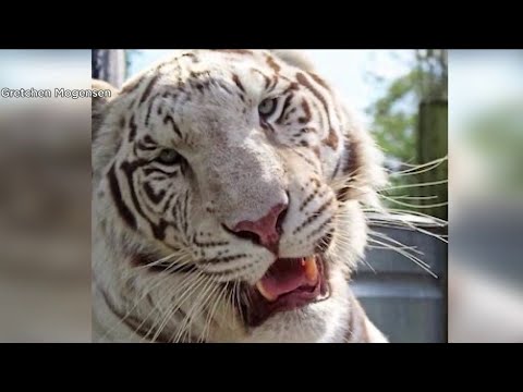
{"type": "MultiPolygon", "coordinates": [[[[170,50],[142,50],[131,64],[131,74],[168,56],[170,50]]],[[[364,112],[384,88],[368,77],[377,74],[385,81],[405,74],[414,61],[412,50],[304,50],[309,54],[318,73],[329,81],[353,106],[353,110],[368,124],[364,112]]]]}

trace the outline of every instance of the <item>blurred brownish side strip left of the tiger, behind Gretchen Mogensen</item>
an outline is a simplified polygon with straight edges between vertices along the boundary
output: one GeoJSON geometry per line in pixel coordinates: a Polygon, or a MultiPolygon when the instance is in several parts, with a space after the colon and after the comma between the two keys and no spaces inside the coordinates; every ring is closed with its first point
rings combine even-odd
{"type": "MultiPolygon", "coordinates": [[[[90,50],[0,50],[0,88],[90,88],[90,50]]],[[[90,100],[0,98],[0,342],[90,341],[90,100]]]]}

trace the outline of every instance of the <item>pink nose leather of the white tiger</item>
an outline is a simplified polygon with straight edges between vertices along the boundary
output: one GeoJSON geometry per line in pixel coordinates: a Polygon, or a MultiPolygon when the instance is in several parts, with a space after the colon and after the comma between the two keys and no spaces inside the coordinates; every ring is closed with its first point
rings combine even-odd
{"type": "Polygon", "coordinates": [[[259,244],[278,254],[278,243],[280,242],[280,229],[278,228],[278,218],[281,212],[287,209],[287,205],[279,204],[272,207],[265,217],[257,221],[242,221],[238,223],[232,231],[234,232],[250,232],[256,234],[259,238],[259,244]]]}

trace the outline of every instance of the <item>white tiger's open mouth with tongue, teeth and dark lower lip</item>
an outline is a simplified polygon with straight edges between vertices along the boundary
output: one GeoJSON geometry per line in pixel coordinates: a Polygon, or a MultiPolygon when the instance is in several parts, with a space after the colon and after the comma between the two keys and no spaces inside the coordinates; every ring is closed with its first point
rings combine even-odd
{"type": "Polygon", "coordinates": [[[326,299],[326,264],[320,255],[278,258],[242,304],[245,322],[258,327],[280,311],[290,311],[326,299]]]}

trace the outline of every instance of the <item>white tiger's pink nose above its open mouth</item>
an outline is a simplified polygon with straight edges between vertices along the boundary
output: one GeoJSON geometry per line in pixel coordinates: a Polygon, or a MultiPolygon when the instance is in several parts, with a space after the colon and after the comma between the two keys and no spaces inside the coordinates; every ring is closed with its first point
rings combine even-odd
{"type": "Polygon", "coordinates": [[[255,244],[265,246],[277,255],[282,232],[281,224],[287,213],[287,204],[278,204],[257,221],[242,221],[238,223],[232,229],[232,232],[239,237],[248,238],[255,244]]]}

